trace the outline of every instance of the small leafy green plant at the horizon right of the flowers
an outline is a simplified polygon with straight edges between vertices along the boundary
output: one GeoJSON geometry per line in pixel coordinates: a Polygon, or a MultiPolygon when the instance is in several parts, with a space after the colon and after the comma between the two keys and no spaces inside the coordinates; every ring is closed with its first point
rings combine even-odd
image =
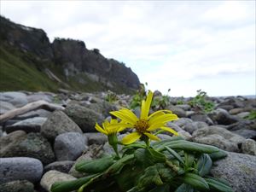
{"type": "Polygon", "coordinates": [[[207,92],[202,90],[196,90],[197,95],[189,102],[192,108],[203,113],[212,112],[215,107],[214,102],[207,101],[207,92]]]}

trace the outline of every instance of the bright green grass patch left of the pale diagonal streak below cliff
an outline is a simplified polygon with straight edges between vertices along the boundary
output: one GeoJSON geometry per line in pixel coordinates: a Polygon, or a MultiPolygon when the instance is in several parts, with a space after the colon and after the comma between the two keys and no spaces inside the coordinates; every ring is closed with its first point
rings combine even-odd
{"type": "Polygon", "coordinates": [[[19,51],[0,47],[0,90],[49,90],[58,89],[58,84],[40,71],[32,61],[25,61],[19,51]]]}

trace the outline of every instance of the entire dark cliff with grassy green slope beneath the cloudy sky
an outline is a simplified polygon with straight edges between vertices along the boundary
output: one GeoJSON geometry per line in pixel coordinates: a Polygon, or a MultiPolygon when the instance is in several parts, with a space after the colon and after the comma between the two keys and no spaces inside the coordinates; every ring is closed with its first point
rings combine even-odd
{"type": "Polygon", "coordinates": [[[51,44],[42,29],[0,19],[0,90],[127,93],[140,84],[131,68],[105,58],[99,49],[87,49],[82,41],[55,38],[51,44]]]}

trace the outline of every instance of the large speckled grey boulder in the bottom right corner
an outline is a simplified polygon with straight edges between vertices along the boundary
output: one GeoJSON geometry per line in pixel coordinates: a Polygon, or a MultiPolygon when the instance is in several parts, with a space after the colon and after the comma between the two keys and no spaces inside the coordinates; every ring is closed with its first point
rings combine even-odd
{"type": "Polygon", "coordinates": [[[229,181],[234,192],[255,192],[256,156],[228,153],[225,159],[214,165],[211,170],[213,177],[229,181]]]}

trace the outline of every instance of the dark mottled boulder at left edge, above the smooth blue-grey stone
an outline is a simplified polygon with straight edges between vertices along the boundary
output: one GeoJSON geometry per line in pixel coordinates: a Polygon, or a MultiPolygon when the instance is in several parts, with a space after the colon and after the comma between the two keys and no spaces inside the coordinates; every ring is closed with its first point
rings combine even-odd
{"type": "Polygon", "coordinates": [[[50,143],[39,133],[15,131],[0,138],[0,157],[32,157],[44,165],[55,161],[50,143]]]}

